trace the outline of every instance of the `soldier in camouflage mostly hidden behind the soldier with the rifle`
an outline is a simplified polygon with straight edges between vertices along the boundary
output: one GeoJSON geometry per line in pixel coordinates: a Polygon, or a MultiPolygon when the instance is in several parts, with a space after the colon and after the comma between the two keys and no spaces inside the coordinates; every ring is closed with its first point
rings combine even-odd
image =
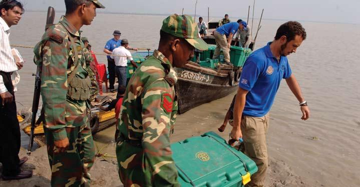
{"type": "Polygon", "coordinates": [[[94,58],[93,55],[91,54],[91,52],[88,49],[88,45],[89,45],[89,40],[87,37],[81,37],[81,40],[84,43],[84,55],[85,55],[85,60],[86,60],[86,70],[89,72],[89,77],[91,80],[91,85],[90,85],[90,99],[89,102],[94,101],[96,96],[99,93],[99,85],[98,82],[96,81],[96,74],[98,73],[97,69],[95,68],[94,63],[94,58]]]}

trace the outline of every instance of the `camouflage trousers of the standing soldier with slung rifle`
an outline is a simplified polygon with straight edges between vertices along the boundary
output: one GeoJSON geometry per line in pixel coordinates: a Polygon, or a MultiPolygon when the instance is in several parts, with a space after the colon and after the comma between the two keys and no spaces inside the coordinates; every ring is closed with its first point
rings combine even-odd
{"type": "Polygon", "coordinates": [[[69,147],[57,152],[52,132],[44,126],[51,174],[51,186],[90,186],[89,170],[94,164],[95,147],[89,124],[66,127],[69,147]]]}

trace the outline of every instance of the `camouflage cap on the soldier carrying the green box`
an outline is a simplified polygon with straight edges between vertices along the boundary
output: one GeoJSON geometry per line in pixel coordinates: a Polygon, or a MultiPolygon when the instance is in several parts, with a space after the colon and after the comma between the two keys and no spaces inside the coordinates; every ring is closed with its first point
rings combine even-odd
{"type": "Polygon", "coordinates": [[[185,38],[192,46],[199,50],[207,50],[208,44],[199,37],[196,22],[190,15],[172,14],[163,20],[161,30],[171,35],[185,38]]]}

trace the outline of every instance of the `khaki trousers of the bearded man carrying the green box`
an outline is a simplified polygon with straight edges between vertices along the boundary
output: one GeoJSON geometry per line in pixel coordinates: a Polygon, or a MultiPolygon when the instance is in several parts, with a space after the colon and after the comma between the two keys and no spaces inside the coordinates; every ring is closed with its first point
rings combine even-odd
{"type": "Polygon", "coordinates": [[[251,176],[247,187],[264,186],[267,170],[266,134],[269,127],[269,114],[262,117],[242,116],[241,132],[244,139],[245,154],[255,161],[257,172],[251,176]]]}

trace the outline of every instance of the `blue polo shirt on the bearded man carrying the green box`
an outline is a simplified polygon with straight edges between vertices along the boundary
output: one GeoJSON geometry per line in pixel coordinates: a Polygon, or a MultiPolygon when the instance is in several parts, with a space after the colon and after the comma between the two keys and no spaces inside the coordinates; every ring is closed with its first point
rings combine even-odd
{"type": "Polygon", "coordinates": [[[251,53],[244,63],[239,87],[249,92],[243,115],[262,117],[269,112],[281,79],[291,75],[287,57],[280,56],[277,61],[270,44],[251,53]]]}

